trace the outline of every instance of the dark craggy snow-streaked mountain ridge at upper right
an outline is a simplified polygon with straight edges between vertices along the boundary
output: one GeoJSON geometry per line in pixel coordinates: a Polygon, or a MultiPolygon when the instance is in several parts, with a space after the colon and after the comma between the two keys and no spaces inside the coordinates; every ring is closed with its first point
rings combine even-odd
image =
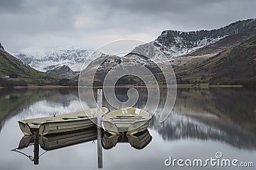
{"type": "MultiPolygon", "coordinates": [[[[201,30],[201,31],[173,31],[166,30],[151,43],[164,52],[169,59],[186,55],[190,52],[207,45],[216,43],[220,39],[234,34],[255,31],[256,19],[237,21],[220,29],[201,30]]],[[[255,34],[254,34],[255,35],[255,34]]],[[[252,36],[250,37],[252,38],[252,36]]],[[[241,38],[243,41],[246,39],[241,38]]],[[[236,43],[236,41],[234,41],[236,43]]],[[[242,43],[242,42],[240,42],[242,43]]]]}

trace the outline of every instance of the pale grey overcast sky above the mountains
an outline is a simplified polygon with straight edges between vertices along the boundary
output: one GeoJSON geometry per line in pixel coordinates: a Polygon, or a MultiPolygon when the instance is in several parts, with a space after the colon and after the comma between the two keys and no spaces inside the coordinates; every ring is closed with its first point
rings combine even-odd
{"type": "Polygon", "coordinates": [[[216,29],[256,18],[255,0],[0,0],[0,42],[95,49],[122,38],[152,41],[163,30],[216,29]]]}

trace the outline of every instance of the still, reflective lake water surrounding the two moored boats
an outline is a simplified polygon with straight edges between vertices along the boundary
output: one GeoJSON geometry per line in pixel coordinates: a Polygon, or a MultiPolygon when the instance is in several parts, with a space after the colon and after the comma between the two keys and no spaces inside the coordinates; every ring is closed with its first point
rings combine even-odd
{"type": "MultiPolygon", "coordinates": [[[[137,89],[141,97],[136,107],[141,108],[147,102],[147,89],[137,89]]],[[[161,91],[164,94],[164,89],[161,91]]],[[[116,96],[125,101],[126,92],[127,88],[117,88],[116,96]]],[[[162,96],[159,110],[163,104],[162,96]]],[[[106,101],[103,105],[113,110],[106,101]]],[[[40,145],[45,147],[39,149],[38,165],[34,165],[22,153],[11,151],[19,146],[21,139],[26,143],[18,120],[77,110],[81,110],[77,89],[0,89],[0,169],[97,169],[97,136],[85,139],[84,131],[68,134],[67,138],[40,138],[40,145]],[[61,140],[67,146],[64,147],[61,140]],[[45,152],[47,142],[52,142],[57,149],[53,147],[45,152]]],[[[175,167],[165,166],[164,161],[169,157],[183,160],[216,159],[216,152],[222,153],[222,159],[253,162],[256,166],[255,122],[255,89],[179,88],[172,114],[163,123],[159,123],[159,114],[156,113],[148,131],[137,136],[116,138],[102,133],[102,166],[103,169],[176,169],[177,164],[175,167]],[[132,139],[137,141],[131,142],[132,139]]],[[[95,132],[93,129],[91,131],[92,134],[95,132]]],[[[28,147],[20,149],[32,157],[33,150],[33,140],[28,147]]],[[[221,167],[208,166],[207,169],[221,167]]]]}

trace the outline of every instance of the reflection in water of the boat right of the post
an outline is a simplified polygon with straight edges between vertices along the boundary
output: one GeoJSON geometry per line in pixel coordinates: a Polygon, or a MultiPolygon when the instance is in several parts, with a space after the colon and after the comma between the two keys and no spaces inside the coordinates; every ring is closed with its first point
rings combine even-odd
{"type": "Polygon", "coordinates": [[[102,147],[108,150],[116,146],[117,143],[129,143],[132,147],[141,150],[145,148],[151,140],[152,136],[147,129],[133,135],[113,135],[108,132],[104,132],[102,147]]]}

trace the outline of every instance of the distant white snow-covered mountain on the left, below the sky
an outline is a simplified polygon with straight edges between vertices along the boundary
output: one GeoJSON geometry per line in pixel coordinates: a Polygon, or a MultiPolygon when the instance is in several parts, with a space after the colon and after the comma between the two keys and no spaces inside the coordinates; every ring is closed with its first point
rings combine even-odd
{"type": "Polygon", "coordinates": [[[12,54],[22,60],[24,64],[38,71],[50,71],[61,66],[68,66],[72,71],[80,71],[84,62],[90,63],[94,60],[90,57],[93,50],[78,48],[74,46],[58,48],[31,47],[13,52],[12,54]]]}

